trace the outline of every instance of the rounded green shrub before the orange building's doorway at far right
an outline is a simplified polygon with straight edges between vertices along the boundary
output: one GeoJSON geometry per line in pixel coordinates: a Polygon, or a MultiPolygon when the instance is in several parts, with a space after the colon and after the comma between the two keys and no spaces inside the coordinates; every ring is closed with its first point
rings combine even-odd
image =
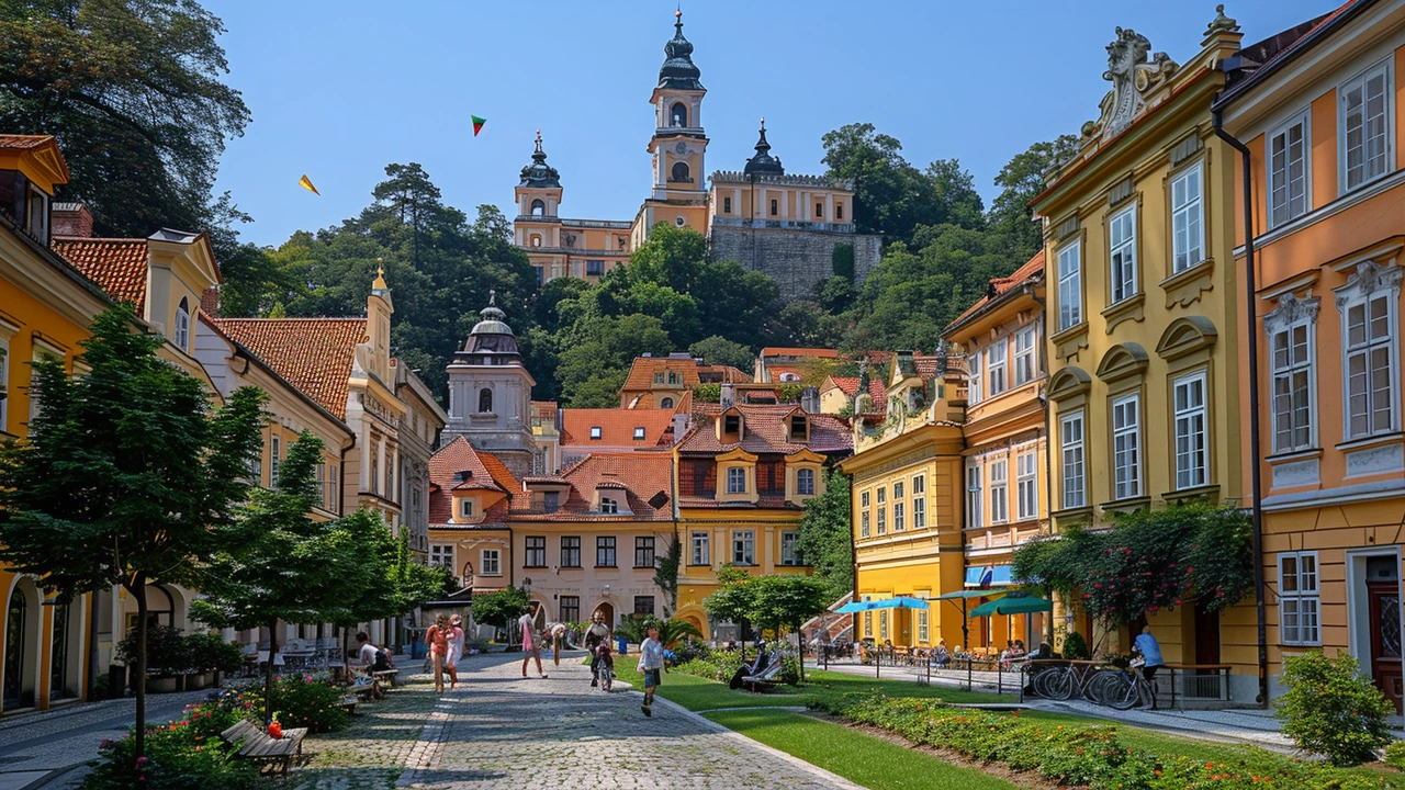
{"type": "Polygon", "coordinates": [[[1324,755],[1332,765],[1360,765],[1391,742],[1387,721],[1395,708],[1360,673],[1356,658],[1312,651],[1283,665],[1288,690],[1277,701],[1277,715],[1283,734],[1300,749],[1324,755]]]}

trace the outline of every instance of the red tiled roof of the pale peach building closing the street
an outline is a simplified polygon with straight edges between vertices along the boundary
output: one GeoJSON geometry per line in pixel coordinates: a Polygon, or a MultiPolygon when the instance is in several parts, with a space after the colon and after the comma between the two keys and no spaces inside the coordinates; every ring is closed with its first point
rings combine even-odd
{"type": "Polygon", "coordinates": [[[559,475],[570,491],[561,509],[542,513],[528,498],[513,500],[514,520],[542,522],[669,522],[673,519],[673,455],[670,453],[592,453],[559,475]],[[596,489],[624,496],[620,509],[628,513],[603,514],[594,510],[596,489]],[[622,491],[624,493],[615,493],[622,491]]]}

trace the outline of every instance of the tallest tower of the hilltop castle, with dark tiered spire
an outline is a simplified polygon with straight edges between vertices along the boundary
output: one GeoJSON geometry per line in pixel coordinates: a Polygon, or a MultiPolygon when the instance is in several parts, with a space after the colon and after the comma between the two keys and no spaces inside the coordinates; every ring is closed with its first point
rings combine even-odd
{"type": "Polygon", "coordinates": [[[693,42],[683,38],[683,11],[674,13],[673,38],[663,45],[663,67],[649,103],[655,129],[649,139],[653,188],[634,219],[635,247],[659,222],[707,233],[707,135],[702,132],[702,72],[693,63],[693,42]]]}

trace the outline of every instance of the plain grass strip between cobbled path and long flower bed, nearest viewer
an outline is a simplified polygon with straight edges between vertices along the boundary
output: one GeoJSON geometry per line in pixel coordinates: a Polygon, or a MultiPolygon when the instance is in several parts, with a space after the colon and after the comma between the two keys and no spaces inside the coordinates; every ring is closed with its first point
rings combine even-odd
{"type": "MultiPolygon", "coordinates": [[[[705,682],[705,680],[704,680],[705,682]]],[[[865,732],[785,710],[729,710],[704,714],[753,741],[794,755],[873,790],[961,787],[1006,790],[1014,784],[905,749],[865,732]]]]}

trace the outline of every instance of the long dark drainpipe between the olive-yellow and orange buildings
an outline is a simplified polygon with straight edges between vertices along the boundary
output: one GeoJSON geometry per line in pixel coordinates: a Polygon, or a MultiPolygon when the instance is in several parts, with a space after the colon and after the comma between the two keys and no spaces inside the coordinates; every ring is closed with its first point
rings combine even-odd
{"type": "Polygon", "coordinates": [[[1255,624],[1259,628],[1259,704],[1269,706],[1269,637],[1267,613],[1264,595],[1267,593],[1263,579],[1263,464],[1260,461],[1259,437],[1259,297],[1255,285],[1253,271],[1253,171],[1250,164],[1253,157],[1249,146],[1224,129],[1224,115],[1221,110],[1213,112],[1215,136],[1225,141],[1229,148],[1239,152],[1243,162],[1243,268],[1245,268],[1245,304],[1248,306],[1248,335],[1249,335],[1249,502],[1250,520],[1253,523],[1253,589],[1255,589],[1255,624]]]}

